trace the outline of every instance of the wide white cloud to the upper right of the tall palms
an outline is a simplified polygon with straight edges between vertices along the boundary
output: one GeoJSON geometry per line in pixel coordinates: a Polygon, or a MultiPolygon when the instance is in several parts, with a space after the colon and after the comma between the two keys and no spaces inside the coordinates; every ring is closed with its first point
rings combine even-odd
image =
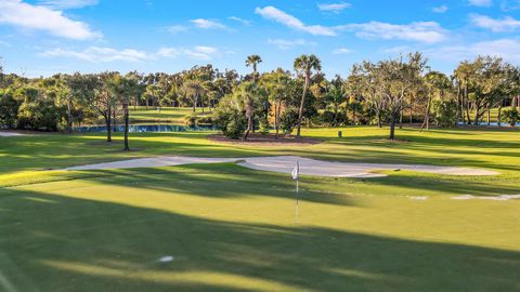
{"type": "Polygon", "coordinates": [[[445,40],[446,31],[435,22],[419,22],[407,25],[369,22],[337,27],[340,30],[354,31],[363,39],[408,40],[435,43],[445,40]]]}

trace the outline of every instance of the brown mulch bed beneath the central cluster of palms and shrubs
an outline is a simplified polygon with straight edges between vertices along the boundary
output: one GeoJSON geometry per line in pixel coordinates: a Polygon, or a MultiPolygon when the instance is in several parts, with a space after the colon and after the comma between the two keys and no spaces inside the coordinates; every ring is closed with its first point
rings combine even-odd
{"type": "Polygon", "coordinates": [[[247,141],[229,138],[222,134],[209,135],[210,141],[234,144],[234,145],[250,145],[250,146],[296,146],[296,145],[315,145],[322,143],[322,141],[310,137],[296,138],[296,136],[280,135],[276,140],[276,135],[269,134],[262,135],[258,133],[249,134],[247,141]]]}

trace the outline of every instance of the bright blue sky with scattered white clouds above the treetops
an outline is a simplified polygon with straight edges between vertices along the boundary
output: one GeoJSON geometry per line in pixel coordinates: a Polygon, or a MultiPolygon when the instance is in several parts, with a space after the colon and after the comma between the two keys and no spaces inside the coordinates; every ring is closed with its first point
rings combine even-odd
{"type": "Polygon", "coordinates": [[[176,72],[213,64],[244,74],[290,69],[302,53],[324,72],[421,51],[432,69],[499,55],[520,64],[520,0],[0,0],[4,70],[176,72]]]}

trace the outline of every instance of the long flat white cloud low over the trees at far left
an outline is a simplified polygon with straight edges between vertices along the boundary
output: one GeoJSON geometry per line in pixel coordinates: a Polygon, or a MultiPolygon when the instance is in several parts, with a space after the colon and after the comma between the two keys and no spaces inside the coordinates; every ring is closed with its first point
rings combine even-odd
{"type": "Polygon", "coordinates": [[[152,59],[153,55],[133,49],[116,50],[112,48],[90,47],[83,51],[53,49],[40,53],[44,57],[73,57],[92,63],[115,61],[139,62],[152,59]]]}

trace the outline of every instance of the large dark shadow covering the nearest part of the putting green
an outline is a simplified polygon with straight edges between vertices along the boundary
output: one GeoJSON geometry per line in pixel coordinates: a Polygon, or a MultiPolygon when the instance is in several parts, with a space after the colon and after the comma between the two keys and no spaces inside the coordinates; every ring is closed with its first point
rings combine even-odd
{"type": "Polygon", "coordinates": [[[0,266],[20,291],[520,289],[516,251],[0,191],[16,194],[0,193],[0,266]]]}

